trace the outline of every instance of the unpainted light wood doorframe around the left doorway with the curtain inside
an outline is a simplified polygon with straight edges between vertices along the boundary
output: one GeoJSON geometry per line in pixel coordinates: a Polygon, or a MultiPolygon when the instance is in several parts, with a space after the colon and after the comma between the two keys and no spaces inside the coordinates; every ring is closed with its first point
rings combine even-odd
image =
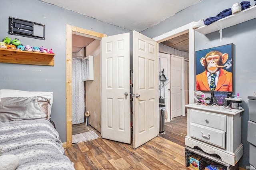
{"type": "Polygon", "coordinates": [[[72,146],[72,34],[101,40],[106,34],[66,25],[66,142],[63,147],[72,146]]]}

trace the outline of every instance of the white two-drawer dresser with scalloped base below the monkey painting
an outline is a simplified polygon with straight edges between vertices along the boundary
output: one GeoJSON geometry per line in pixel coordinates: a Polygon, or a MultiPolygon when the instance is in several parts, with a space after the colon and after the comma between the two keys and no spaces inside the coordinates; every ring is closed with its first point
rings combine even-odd
{"type": "Polygon", "coordinates": [[[244,109],[220,109],[214,106],[186,105],[188,109],[185,145],[198,146],[208,154],[218,154],[232,166],[243,155],[241,120],[244,109]]]}

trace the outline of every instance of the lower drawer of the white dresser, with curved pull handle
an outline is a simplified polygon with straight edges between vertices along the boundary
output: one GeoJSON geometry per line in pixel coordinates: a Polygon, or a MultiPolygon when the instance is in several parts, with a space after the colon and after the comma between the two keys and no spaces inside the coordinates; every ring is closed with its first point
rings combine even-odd
{"type": "Polygon", "coordinates": [[[215,146],[225,149],[226,144],[226,132],[223,130],[217,130],[206,126],[190,123],[190,136],[208,142],[215,146]]]}

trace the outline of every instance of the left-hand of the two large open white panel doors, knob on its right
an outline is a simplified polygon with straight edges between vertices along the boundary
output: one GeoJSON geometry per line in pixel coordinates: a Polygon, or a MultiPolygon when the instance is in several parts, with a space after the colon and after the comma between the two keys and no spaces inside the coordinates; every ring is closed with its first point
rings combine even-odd
{"type": "Polygon", "coordinates": [[[102,138],[131,143],[130,33],[102,38],[102,138]]]}

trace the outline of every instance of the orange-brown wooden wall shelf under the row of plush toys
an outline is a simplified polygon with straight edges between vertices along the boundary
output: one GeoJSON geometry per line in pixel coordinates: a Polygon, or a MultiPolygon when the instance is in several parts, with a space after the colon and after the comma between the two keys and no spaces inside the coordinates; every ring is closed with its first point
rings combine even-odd
{"type": "Polygon", "coordinates": [[[54,55],[55,54],[0,48],[0,63],[54,66],[54,55]]]}

